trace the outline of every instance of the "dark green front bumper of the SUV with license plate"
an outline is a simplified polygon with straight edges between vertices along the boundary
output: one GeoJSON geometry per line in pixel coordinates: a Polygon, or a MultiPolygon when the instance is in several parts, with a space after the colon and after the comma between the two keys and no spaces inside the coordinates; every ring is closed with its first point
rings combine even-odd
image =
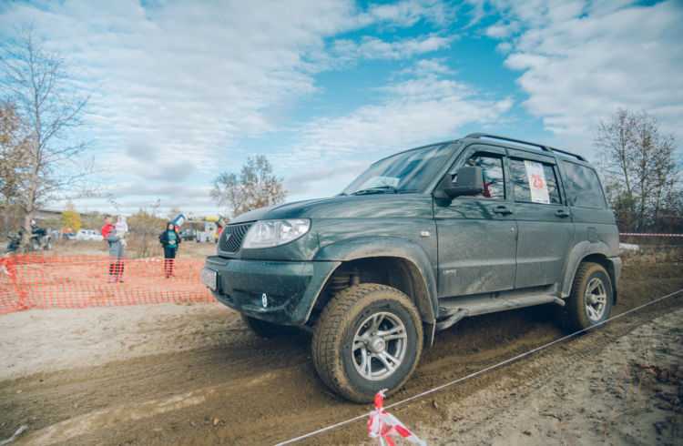
{"type": "MultiPolygon", "coordinates": [[[[302,325],[322,287],[341,262],[261,261],[207,258],[205,270],[216,272],[211,291],[221,303],[256,319],[302,325]]],[[[211,287],[209,287],[211,288],[211,287]]]]}

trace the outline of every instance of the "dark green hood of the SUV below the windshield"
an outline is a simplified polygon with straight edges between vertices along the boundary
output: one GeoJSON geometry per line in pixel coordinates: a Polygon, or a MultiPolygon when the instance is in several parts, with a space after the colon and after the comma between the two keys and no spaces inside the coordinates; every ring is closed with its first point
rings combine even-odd
{"type": "Polygon", "coordinates": [[[230,220],[230,224],[278,218],[432,218],[432,196],[377,194],[311,199],[258,208],[230,220]]]}

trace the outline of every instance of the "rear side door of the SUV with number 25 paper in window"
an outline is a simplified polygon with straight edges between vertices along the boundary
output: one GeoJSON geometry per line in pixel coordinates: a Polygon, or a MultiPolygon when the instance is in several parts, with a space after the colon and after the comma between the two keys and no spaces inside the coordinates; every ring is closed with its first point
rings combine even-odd
{"type": "Polygon", "coordinates": [[[555,157],[508,150],[517,220],[515,289],[557,283],[574,239],[555,157]]]}

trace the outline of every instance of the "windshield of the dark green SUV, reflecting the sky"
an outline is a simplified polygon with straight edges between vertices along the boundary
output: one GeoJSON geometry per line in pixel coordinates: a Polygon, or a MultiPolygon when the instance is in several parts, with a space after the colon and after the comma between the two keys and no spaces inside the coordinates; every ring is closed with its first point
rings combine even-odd
{"type": "Polygon", "coordinates": [[[417,192],[445,162],[453,146],[416,148],[384,158],[369,167],[341,195],[417,192]]]}

